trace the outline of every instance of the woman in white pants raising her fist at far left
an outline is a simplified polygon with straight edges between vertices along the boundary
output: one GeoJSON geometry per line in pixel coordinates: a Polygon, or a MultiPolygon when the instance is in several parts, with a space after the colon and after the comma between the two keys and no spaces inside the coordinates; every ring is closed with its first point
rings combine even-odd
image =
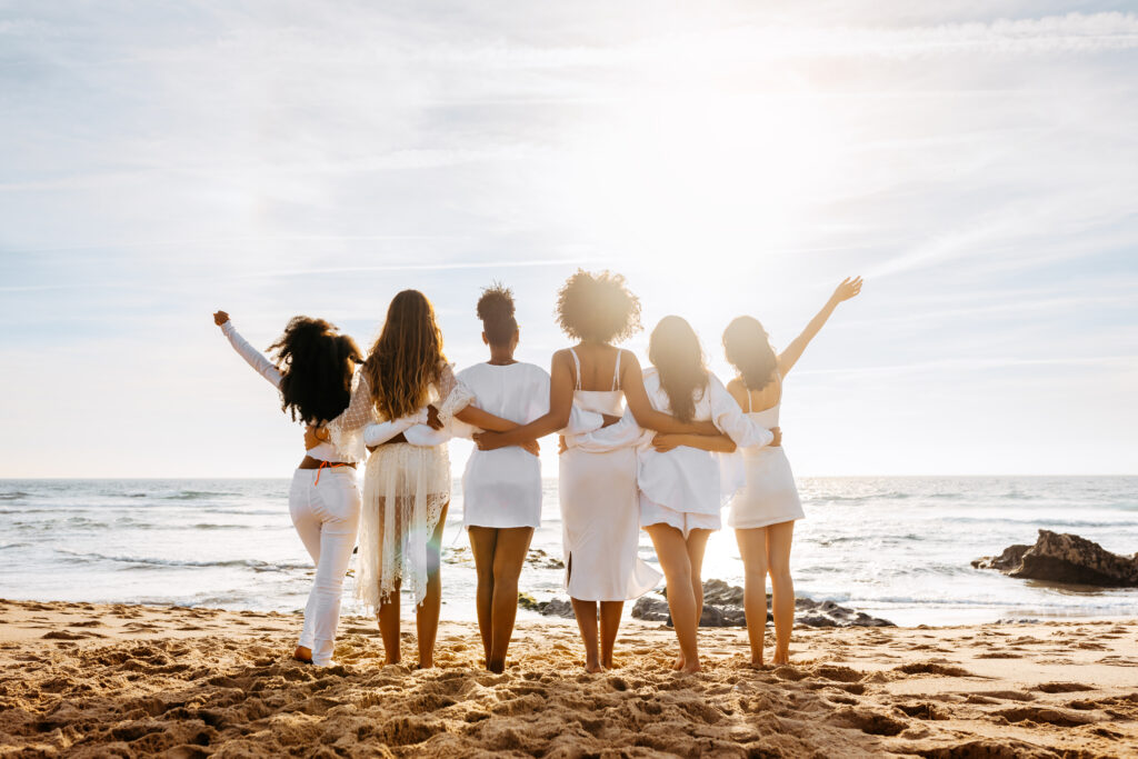
{"type": "MultiPolygon", "coordinates": [[[[277,353],[272,362],[238,335],[228,313],[215,313],[214,323],[241,357],[280,390],[281,409],[294,420],[320,423],[347,407],[360,348],[333,324],[294,317],[269,348],[277,353]]],[[[360,522],[356,461],[331,445],[315,445],[305,452],[289,488],[292,525],[316,564],[292,657],[321,667],[332,663],[344,575],[360,522]]]]}

